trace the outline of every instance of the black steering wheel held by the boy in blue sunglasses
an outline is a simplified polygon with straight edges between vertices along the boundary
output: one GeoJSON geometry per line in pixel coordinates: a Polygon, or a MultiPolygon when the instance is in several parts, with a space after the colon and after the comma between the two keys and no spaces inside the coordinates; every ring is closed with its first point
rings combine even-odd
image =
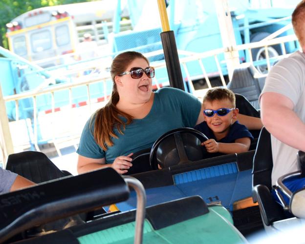
{"type": "Polygon", "coordinates": [[[206,158],[208,152],[201,146],[206,140],[203,133],[193,128],[178,128],[163,134],[152,145],[152,169],[158,169],[158,164],[165,168],[206,158]]]}

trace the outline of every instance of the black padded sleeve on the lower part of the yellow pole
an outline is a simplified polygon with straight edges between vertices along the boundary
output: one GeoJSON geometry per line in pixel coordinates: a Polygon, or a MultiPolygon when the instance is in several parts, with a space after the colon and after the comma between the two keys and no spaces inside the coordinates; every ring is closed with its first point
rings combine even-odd
{"type": "Polygon", "coordinates": [[[171,87],[175,87],[184,91],[184,84],[176,41],[174,38],[174,31],[165,31],[160,35],[170,85],[171,87]]]}

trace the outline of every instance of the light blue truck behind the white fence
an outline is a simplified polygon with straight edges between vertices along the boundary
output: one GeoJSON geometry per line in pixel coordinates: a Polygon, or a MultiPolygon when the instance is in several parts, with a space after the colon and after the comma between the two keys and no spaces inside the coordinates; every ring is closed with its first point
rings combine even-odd
{"type": "MultiPolygon", "coordinates": [[[[135,49],[147,53],[161,49],[161,40],[158,35],[161,32],[160,22],[151,23],[151,20],[155,19],[153,16],[158,15],[158,10],[151,6],[149,1],[131,0],[130,2],[133,2],[133,7],[130,8],[133,31],[112,35],[113,50],[135,49]],[[138,13],[141,15],[137,16],[138,13]]],[[[279,2],[274,5],[273,2],[276,1],[269,1],[269,5],[260,5],[259,1],[228,1],[237,45],[261,41],[290,23],[292,10],[298,1],[289,1],[289,4],[282,1],[282,5],[279,2]]],[[[214,1],[171,0],[168,1],[168,12],[178,50],[194,54],[223,47],[214,1]]],[[[289,34],[293,34],[292,29],[285,31],[281,36],[289,34]]],[[[287,53],[291,53],[296,50],[297,44],[289,43],[285,48],[287,53]]],[[[279,45],[268,47],[268,52],[270,57],[283,54],[279,45]]],[[[183,56],[185,55],[181,55],[183,56]]],[[[240,63],[250,61],[249,55],[245,52],[240,51],[239,56],[240,63]]],[[[264,48],[253,49],[252,58],[257,61],[254,63],[255,66],[265,64],[265,61],[261,61],[265,59],[264,48]]],[[[158,55],[151,60],[162,59],[163,56],[158,55]]],[[[226,75],[224,56],[218,55],[218,59],[222,72],[226,75]]],[[[204,59],[202,62],[209,77],[219,77],[217,63],[213,57],[204,59]]],[[[192,80],[203,78],[198,62],[189,63],[187,68],[192,80]]],[[[260,66],[259,70],[261,73],[266,73],[266,65],[260,66]]],[[[183,76],[187,76],[185,71],[183,76]]]]}

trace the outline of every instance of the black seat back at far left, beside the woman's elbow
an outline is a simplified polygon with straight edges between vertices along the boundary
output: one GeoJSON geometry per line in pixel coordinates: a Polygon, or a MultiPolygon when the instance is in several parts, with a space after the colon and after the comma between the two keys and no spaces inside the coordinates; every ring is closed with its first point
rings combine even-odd
{"type": "Polygon", "coordinates": [[[10,154],[6,169],[34,183],[42,183],[71,175],[69,172],[56,167],[44,153],[37,151],[10,154]]]}

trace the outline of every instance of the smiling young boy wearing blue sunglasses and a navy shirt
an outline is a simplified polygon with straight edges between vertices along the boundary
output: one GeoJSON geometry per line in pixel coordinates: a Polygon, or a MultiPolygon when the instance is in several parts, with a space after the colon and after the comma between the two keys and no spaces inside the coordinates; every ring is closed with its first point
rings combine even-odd
{"type": "Polygon", "coordinates": [[[209,138],[202,142],[209,153],[241,153],[249,150],[253,136],[237,119],[235,95],[225,88],[213,88],[203,98],[204,122],[195,126],[209,138]]]}

